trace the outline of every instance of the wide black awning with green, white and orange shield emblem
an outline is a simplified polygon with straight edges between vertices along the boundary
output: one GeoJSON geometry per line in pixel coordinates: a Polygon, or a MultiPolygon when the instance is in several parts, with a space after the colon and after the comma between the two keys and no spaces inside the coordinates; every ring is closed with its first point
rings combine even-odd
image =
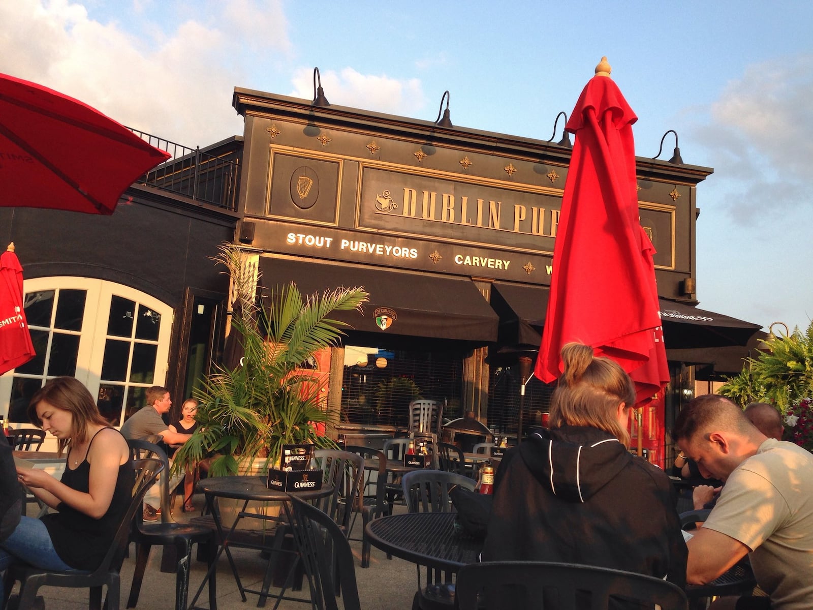
{"type": "Polygon", "coordinates": [[[266,289],[291,281],[302,294],[363,287],[370,293],[363,314],[332,315],[359,332],[480,344],[497,340],[498,317],[466,278],[265,256],[260,258],[259,268],[260,283],[266,289]]]}

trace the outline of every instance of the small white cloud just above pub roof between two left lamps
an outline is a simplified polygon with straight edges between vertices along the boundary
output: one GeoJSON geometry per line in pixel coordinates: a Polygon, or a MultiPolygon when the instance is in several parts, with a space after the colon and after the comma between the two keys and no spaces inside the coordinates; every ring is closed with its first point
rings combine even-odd
{"type": "MultiPolygon", "coordinates": [[[[373,76],[344,68],[322,72],[320,80],[328,102],[339,106],[366,108],[394,115],[417,116],[426,99],[420,80],[399,81],[389,76],[373,76]]],[[[299,68],[293,73],[293,97],[313,99],[313,68],[299,68]]]]}

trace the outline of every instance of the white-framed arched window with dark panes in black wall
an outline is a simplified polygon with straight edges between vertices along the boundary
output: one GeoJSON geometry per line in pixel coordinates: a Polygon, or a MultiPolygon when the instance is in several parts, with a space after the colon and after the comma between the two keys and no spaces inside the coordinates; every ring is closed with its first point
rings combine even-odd
{"type": "Polygon", "coordinates": [[[76,377],[97,397],[112,425],[163,385],[172,307],[126,285],[87,277],[26,280],[25,315],[37,356],[0,377],[8,417],[28,424],[26,409],[48,379],[76,377]]]}

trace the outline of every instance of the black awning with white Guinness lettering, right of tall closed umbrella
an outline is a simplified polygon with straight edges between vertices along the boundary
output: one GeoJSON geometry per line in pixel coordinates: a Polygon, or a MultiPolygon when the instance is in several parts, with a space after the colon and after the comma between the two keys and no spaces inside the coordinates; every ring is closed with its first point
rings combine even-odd
{"type": "Polygon", "coordinates": [[[660,300],[663,339],[667,350],[745,346],[762,327],[721,313],[706,312],[687,303],[660,300]]]}

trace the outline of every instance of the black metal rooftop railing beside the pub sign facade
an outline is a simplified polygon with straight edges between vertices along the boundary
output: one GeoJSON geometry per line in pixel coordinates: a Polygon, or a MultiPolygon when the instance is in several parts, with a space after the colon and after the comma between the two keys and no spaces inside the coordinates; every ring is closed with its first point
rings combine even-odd
{"type": "Polygon", "coordinates": [[[167,161],[141,176],[137,184],[154,186],[227,210],[237,209],[240,163],[233,149],[215,154],[214,151],[201,150],[200,146],[189,148],[132,127],[127,129],[171,155],[167,161]]]}

